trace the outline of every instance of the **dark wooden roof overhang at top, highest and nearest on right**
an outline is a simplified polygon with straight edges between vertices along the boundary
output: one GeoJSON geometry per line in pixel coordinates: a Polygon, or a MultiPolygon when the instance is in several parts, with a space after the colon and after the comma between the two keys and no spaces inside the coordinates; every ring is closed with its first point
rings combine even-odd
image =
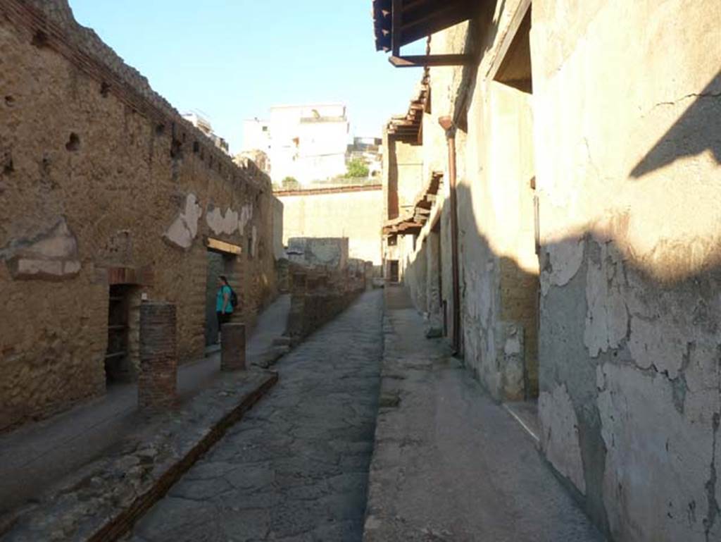
{"type": "Polygon", "coordinates": [[[471,19],[482,0],[373,0],[376,51],[391,51],[391,64],[457,66],[469,64],[467,54],[401,56],[400,48],[471,19]]]}

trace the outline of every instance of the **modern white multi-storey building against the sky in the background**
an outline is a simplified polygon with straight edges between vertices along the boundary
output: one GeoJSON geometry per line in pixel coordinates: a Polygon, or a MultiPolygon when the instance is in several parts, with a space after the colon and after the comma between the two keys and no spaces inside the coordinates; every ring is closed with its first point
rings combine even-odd
{"type": "Polygon", "coordinates": [[[269,121],[244,123],[243,149],[266,152],[274,183],[309,185],[345,173],[348,128],[343,104],[278,105],[269,121]]]}

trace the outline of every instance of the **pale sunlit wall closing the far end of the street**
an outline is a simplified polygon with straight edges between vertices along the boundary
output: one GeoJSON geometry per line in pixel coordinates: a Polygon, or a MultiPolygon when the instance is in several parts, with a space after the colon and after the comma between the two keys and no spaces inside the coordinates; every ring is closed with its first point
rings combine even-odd
{"type": "Polygon", "coordinates": [[[283,243],[291,237],[348,237],[351,258],[381,265],[380,185],[278,192],[283,243]]]}

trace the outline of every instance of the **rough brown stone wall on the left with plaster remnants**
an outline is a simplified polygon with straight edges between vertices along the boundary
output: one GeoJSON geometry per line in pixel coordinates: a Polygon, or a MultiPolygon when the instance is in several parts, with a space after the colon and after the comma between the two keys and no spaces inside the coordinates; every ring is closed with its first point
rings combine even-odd
{"type": "Polygon", "coordinates": [[[132,288],[131,319],[140,292],[176,303],[179,355],[194,359],[205,238],[242,248],[227,269],[249,325],[275,274],[270,180],[215,149],[64,1],[0,6],[0,66],[4,429],[104,393],[110,284],[132,288]]]}

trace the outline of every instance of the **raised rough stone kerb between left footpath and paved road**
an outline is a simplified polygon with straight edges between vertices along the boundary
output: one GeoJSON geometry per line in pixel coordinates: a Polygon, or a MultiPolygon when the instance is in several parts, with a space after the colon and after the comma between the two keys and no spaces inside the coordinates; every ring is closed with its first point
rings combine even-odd
{"type": "Polygon", "coordinates": [[[0,540],[117,540],[277,382],[277,372],[224,373],[182,406],[146,416],[102,458],[2,518],[0,540]]]}

